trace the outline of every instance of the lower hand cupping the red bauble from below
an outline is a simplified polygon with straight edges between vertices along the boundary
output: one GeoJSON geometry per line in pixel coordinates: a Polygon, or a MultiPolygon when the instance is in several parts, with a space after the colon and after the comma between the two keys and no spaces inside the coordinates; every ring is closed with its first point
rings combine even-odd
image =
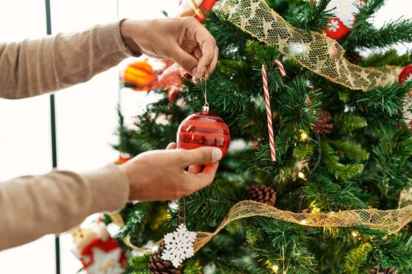
{"type": "Polygon", "coordinates": [[[120,168],[130,183],[129,200],[173,201],[211,184],[220,158],[218,148],[184,150],[171,143],[167,150],[141,153],[120,168]],[[202,165],[206,165],[203,171],[202,165]]]}

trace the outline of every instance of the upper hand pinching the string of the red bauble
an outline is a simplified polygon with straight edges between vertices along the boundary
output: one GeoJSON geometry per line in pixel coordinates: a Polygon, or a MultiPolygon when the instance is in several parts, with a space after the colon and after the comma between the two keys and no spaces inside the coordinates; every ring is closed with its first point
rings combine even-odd
{"type": "Polygon", "coordinates": [[[173,60],[194,77],[203,77],[207,67],[209,73],[216,68],[216,40],[194,17],[125,20],[120,32],[134,54],[173,60]]]}

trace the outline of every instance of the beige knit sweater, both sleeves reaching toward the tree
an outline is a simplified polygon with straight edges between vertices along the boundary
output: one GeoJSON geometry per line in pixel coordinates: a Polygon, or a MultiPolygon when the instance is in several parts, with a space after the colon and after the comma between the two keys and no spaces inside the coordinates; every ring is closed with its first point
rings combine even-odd
{"type": "MultiPolygon", "coordinates": [[[[119,24],[0,42],[0,97],[20,99],[60,90],[116,66],[132,55],[119,24]]],[[[0,182],[0,251],[65,232],[90,214],[118,210],[128,191],[126,175],[114,165],[88,173],[53,171],[0,182]]]]}

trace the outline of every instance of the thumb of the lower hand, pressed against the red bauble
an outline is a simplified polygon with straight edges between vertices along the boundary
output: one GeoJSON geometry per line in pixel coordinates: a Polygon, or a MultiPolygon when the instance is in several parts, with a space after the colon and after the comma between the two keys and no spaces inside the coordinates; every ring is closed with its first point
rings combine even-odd
{"type": "MultiPolygon", "coordinates": [[[[183,151],[182,151],[183,152],[183,151]]],[[[222,159],[222,151],[216,147],[199,147],[197,149],[184,150],[184,164],[210,164],[222,159]]]]}

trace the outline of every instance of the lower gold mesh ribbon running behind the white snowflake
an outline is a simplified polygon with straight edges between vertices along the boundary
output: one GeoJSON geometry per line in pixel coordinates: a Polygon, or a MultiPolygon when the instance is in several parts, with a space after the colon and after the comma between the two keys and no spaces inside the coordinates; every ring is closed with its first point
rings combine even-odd
{"type": "MultiPolygon", "coordinates": [[[[114,223],[120,227],[124,226],[122,216],[111,214],[114,223]]],[[[220,223],[215,232],[196,232],[194,251],[198,251],[222,230],[228,223],[238,219],[251,216],[264,216],[268,218],[297,223],[310,227],[354,227],[357,225],[367,225],[371,229],[382,230],[389,234],[398,232],[407,223],[412,221],[412,206],[400,208],[398,210],[344,210],[331,213],[293,213],[290,211],[278,210],[273,206],[255,201],[240,201],[229,210],[225,220],[220,223]]],[[[139,252],[150,252],[152,249],[146,247],[135,247],[130,243],[130,238],[126,237],[124,243],[139,252]]],[[[159,242],[158,242],[159,243],[159,242]]],[[[157,243],[157,244],[158,244],[157,243]]]]}

